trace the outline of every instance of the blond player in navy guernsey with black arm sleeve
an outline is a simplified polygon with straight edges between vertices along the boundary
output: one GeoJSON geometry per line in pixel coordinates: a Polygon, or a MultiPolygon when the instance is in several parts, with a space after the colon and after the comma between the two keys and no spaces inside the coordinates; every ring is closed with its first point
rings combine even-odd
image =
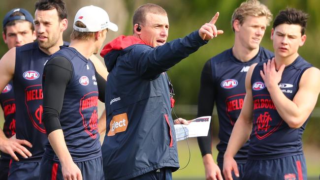
{"type": "MultiPolygon", "coordinates": [[[[233,47],[208,60],[202,70],[197,117],[211,116],[216,103],[219,119],[219,151],[215,164],[212,157],[212,124],[207,137],[198,137],[207,180],[222,180],[224,152],[237,120],[244,96],[246,73],[253,63],[270,59],[274,55],[260,47],[266,27],[272,19],[270,10],[257,0],[247,0],[236,8],[231,26],[234,31],[233,47]]],[[[248,157],[249,141],[237,152],[241,179],[248,157]]],[[[233,179],[238,179],[234,174],[233,179]]]]}

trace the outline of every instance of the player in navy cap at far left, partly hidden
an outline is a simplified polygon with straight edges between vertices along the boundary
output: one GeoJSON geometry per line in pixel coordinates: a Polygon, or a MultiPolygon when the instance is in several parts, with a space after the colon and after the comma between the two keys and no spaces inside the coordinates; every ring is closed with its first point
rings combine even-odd
{"type": "MultiPolygon", "coordinates": [[[[11,9],[2,22],[2,37],[8,49],[19,47],[35,40],[32,15],[23,8],[11,9]]],[[[0,103],[4,114],[3,132],[5,137],[15,135],[16,104],[13,92],[13,84],[10,81],[0,94],[0,103]]],[[[10,155],[0,152],[0,180],[8,178],[10,155]]]]}

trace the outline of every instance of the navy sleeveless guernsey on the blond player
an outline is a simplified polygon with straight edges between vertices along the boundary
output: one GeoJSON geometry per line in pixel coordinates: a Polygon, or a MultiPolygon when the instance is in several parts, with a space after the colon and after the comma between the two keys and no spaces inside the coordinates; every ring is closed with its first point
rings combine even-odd
{"type": "MultiPolygon", "coordinates": [[[[245,77],[250,65],[268,60],[274,55],[260,47],[257,55],[247,62],[237,60],[232,48],[211,59],[212,78],[215,83],[215,100],[219,118],[219,150],[217,161],[223,163],[233,125],[238,119],[246,95],[245,77]]],[[[249,142],[235,155],[237,162],[245,162],[248,156],[249,142]]]]}

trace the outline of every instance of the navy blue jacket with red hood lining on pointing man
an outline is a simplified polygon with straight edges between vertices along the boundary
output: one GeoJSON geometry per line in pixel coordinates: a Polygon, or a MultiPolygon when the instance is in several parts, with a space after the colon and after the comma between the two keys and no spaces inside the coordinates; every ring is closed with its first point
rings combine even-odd
{"type": "MultiPolygon", "coordinates": [[[[156,48],[137,44],[141,40],[135,38],[134,42],[134,38],[128,36],[132,45],[104,56],[109,71],[107,129],[101,148],[106,180],[127,180],[163,167],[179,168],[165,71],[206,44],[198,31],[156,48]]],[[[115,39],[111,43],[121,42],[115,39]]]]}

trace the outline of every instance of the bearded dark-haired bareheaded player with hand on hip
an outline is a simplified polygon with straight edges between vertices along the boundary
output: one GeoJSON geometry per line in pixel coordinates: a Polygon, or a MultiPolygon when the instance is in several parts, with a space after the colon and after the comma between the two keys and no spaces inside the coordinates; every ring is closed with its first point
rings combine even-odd
{"type": "Polygon", "coordinates": [[[0,60],[0,89],[14,79],[16,138],[21,140],[17,143],[11,139],[1,139],[0,150],[14,159],[10,165],[9,180],[39,179],[44,145],[48,141],[41,118],[41,76],[50,55],[64,44],[62,35],[67,28],[62,0],[38,0],[35,7],[37,41],[10,49],[0,60]],[[61,12],[56,9],[58,6],[61,12]]]}

